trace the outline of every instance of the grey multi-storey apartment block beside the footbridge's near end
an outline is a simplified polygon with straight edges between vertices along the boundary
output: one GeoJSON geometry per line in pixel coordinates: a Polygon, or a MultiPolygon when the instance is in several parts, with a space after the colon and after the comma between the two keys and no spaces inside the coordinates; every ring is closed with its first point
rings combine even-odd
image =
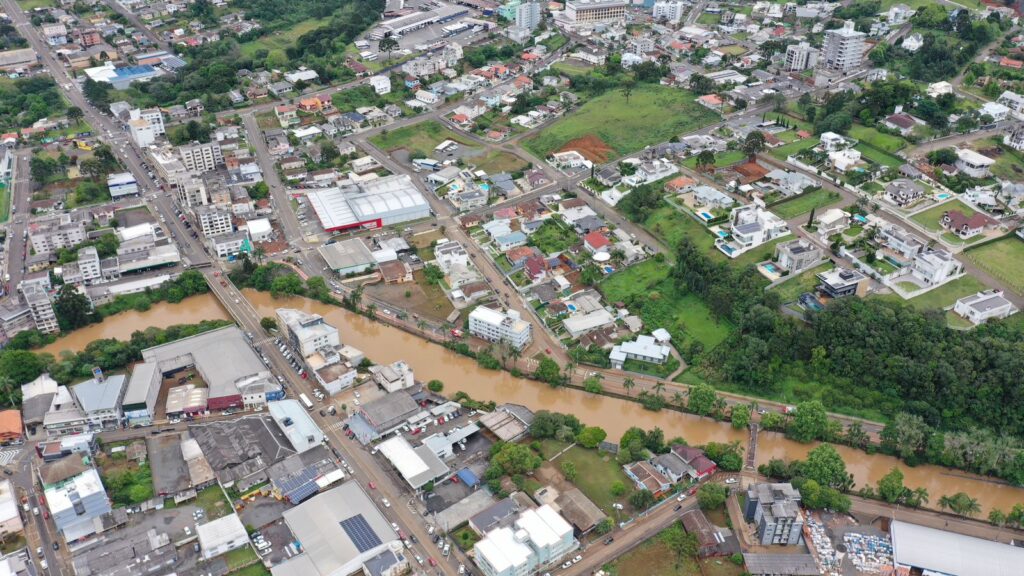
{"type": "Polygon", "coordinates": [[[755,484],[746,489],[746,522],[757,525],[762,545],[800,544],[804,516],[800,510],[800,492],[792,484],[755,484]]]}

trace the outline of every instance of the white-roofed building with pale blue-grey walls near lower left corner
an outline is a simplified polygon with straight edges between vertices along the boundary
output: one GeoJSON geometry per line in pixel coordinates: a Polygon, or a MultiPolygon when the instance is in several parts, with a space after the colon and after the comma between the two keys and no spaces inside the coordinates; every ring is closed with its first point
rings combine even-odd
{"type": "Polygon", "coordinates": [[[101,517],[111,511],[111,502],[96,468],[86,468],[45,486],[45,492],[50,516],[67,542],[77,542],[102,531],[101,517]]]}

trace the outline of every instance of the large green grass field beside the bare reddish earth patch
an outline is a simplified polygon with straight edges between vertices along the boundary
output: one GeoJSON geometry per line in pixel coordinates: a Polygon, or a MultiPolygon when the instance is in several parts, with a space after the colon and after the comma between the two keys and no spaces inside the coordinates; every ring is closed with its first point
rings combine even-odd
{"type": "Polygon", "coordinates": [[[694,97],[687,90],[643,85],[627,101],[621,90],[610,90],[524,140],[523,146],[546,158],[572,139],[594,135],[614,156],[631,154],[715,122],[718,115],[693,101],[694,97]]]}

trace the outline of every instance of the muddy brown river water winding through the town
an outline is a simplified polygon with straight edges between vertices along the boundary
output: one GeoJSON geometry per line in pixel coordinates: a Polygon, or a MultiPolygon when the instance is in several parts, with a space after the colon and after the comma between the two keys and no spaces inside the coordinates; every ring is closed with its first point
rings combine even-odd
{"type": "MultiPolygon", "coordinates": [[[[667,439],[682,437],[694,445],[733,440],[746,445],[746,431],[734,430],[728,423],[672,410],[650,412],[633,402],[577,389],[552,388],[544,383],[515,378],[507,372],[483,370],[472,359],[339,307],[305,298],[273,299],[268,293],[252,290],[245,293],[261,317],[274,316],[276,307],[295,307],[319,314],[338,327],[344,343],[361,349],[368,358],[378,363],[404,360],[415,370],[417,379],[426,381],[436,378],[443,381],[446,394],[462,390],[476,400],[521,404],[532,410],[572,413],[589,425],[603,427],[611,441],[616,441],[628,427],[636,425],[643,428],[657,426],[665,430],[667,439]]],[[[54,354],[66,348],[81,349],[93,339],[127,338],[133,331],[148,326],[166,327],[222,318],[226,318],[226,313],[213,296],[194,296],[178,304],[158,304],[145,313],[125,313],[109,318],[102,324],[78,330],[44,349],[54,354]]],[[[793,442],[779,434],[761,433],[757,462],[761,464],[771,458],[804,458],[814,446],[793,442]]],[[[844,446],[836,448],[858,487],[876,484],[896,466],[903,471],[907,487],[924,487],[928,490],[931,507],[936,507],[940,496],[961,491],[978,499],[982,515],[986,515],[992,507],[1008,510],[1014,504],[1024,502],[1024,489],[940,466],[908,467],[890,456],[867,454],[844,446]]]]}

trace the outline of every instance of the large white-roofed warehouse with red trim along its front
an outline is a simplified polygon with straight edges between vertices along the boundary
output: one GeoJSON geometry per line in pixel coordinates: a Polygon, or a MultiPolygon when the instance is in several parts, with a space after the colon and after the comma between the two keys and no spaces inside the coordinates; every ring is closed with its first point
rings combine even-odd
{"type": "Polygon", "coordinates": [[[324,230],[377,229],[430,215],[430,205],[408,175],[385,176],[306,195],[324,230]]]}

